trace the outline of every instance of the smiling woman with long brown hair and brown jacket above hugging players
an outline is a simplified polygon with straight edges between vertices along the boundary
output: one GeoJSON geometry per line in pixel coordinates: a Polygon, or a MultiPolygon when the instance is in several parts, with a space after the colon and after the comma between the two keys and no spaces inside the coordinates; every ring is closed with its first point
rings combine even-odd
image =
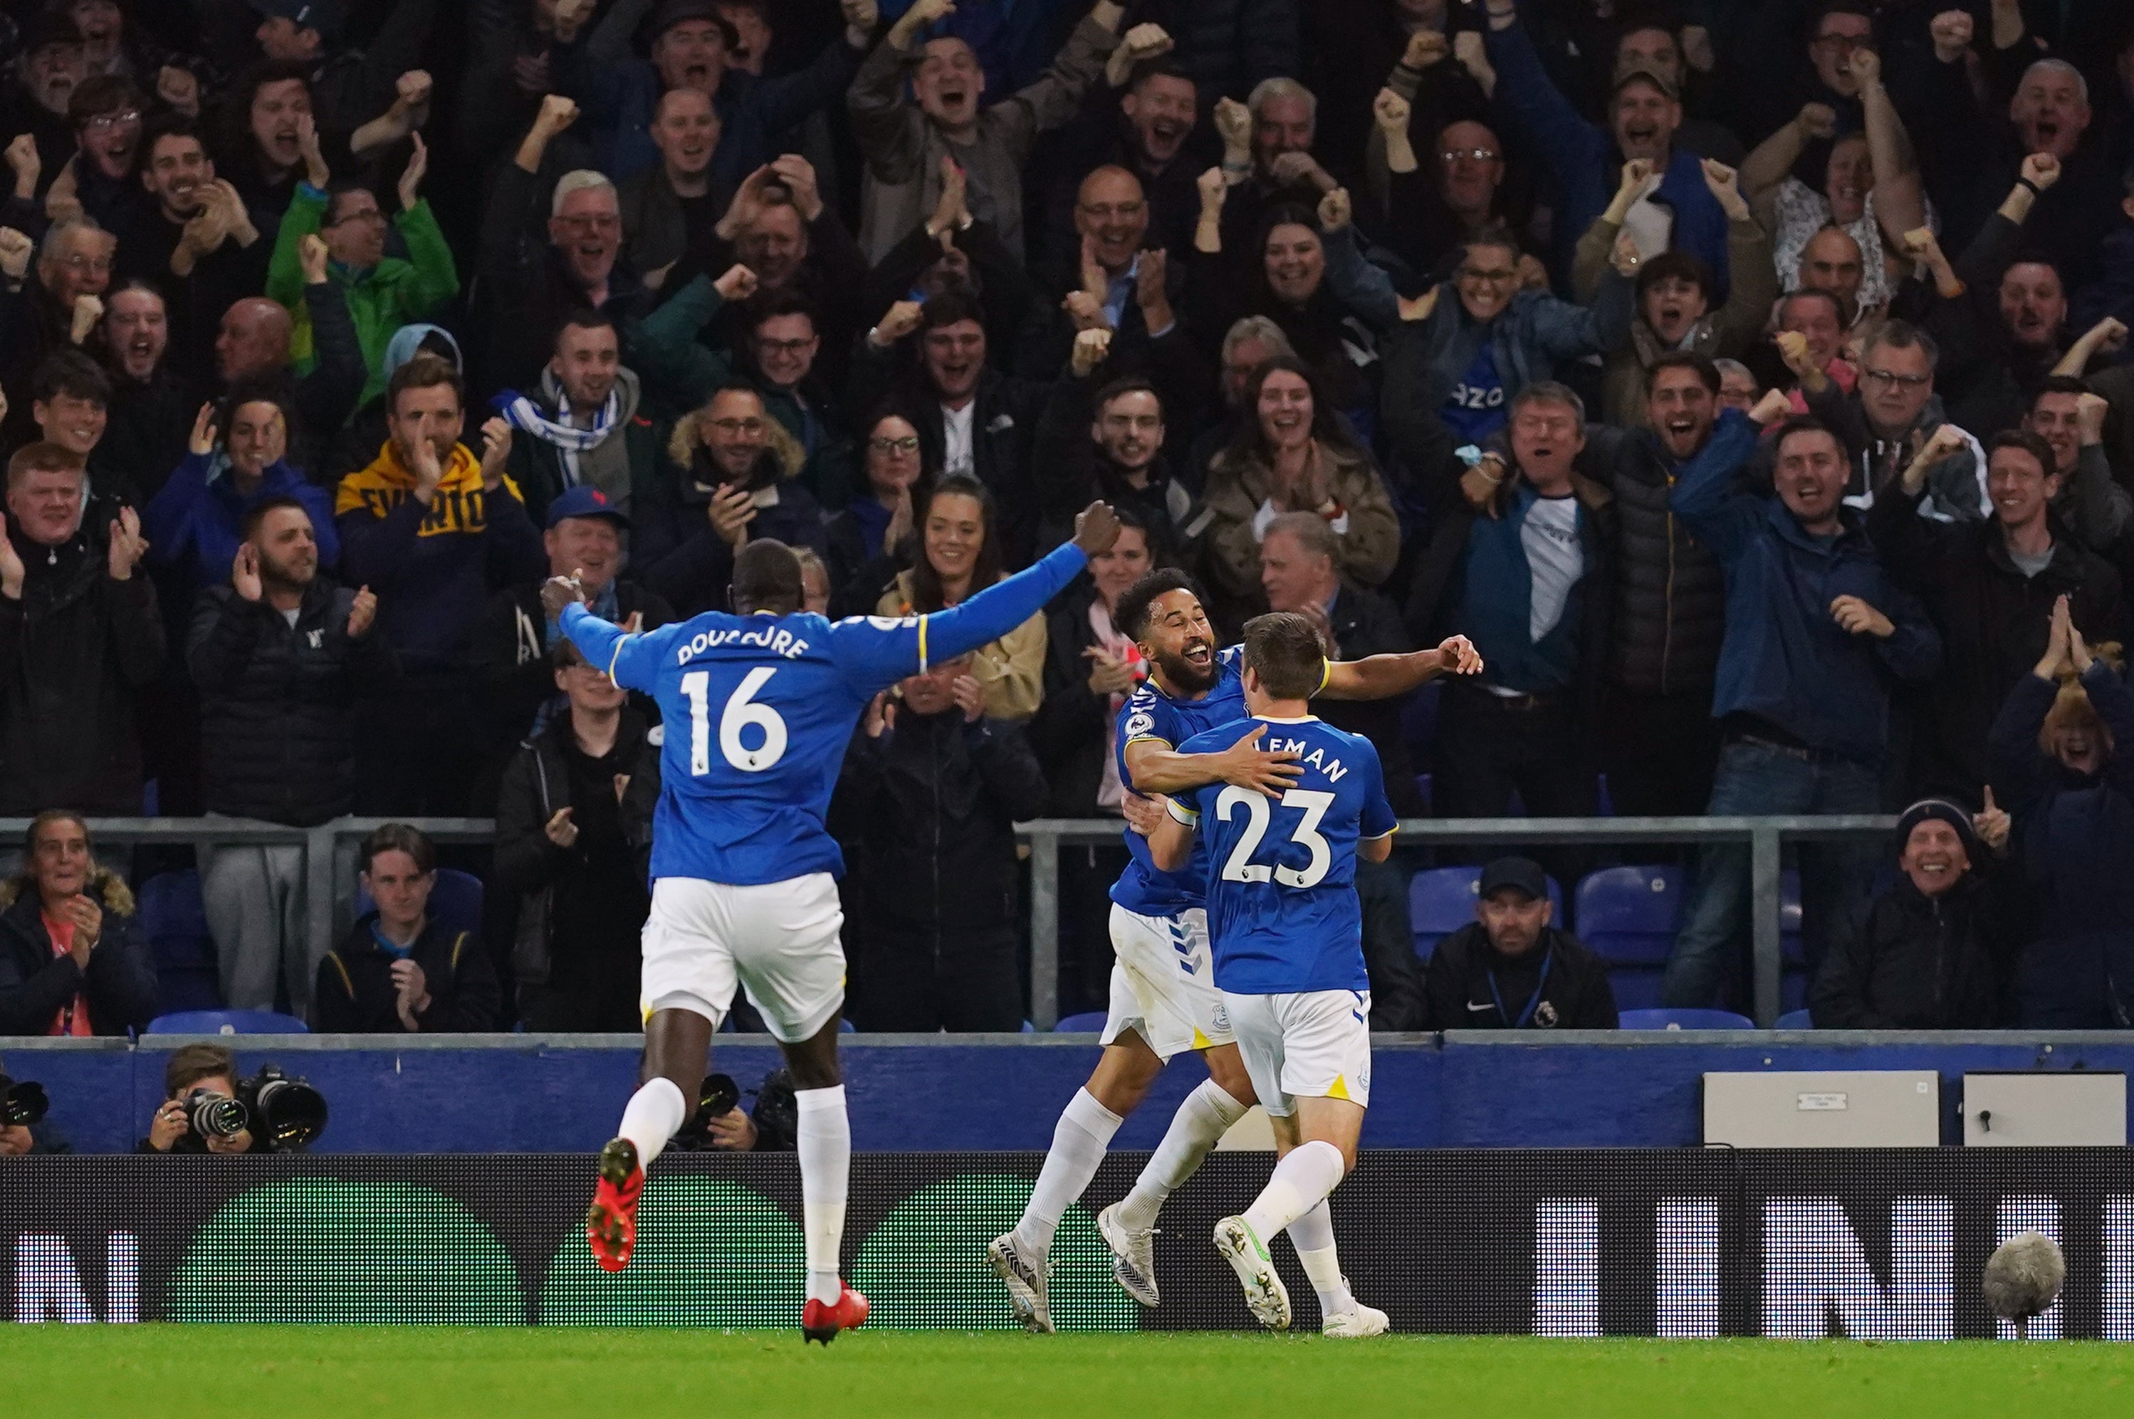
{"type": "MultiPolygon", "coordinates": [[[[1283,512],[1315,512],[1334,529],[1336,568],[1376,587],[1400,555],[1400,519],[1370,450],[1342,429],[1304,361],[1259,367],[1238,437],[1208,465],[1208,578],[1225,615],[1263,610],[1259,538],[1283,512]]],[[[1225,621],[1227,623],[1227,621],[1225,621]]]]}

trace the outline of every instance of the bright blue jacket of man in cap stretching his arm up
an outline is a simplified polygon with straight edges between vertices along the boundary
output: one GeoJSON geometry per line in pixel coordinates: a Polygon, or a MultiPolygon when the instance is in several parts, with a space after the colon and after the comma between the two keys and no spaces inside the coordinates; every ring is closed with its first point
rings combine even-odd
{"type": "MultiPolygon", "coordinates": [[[[1485,30],[1490,64],[1496,66],[1496,109],[1541,154],[1562,192],[1556,213],[1556,267],[1571,269],[1571,252],[1586,228],[1607,211],[1622,179],[1622,154],[1615,137],[1571,107],[1571,100],[1549,81],[1541,66],[1526,23],[1485,30]]],[[[1667,173],[1652,194],[1654,203],[1675,209],[1671,248],[1705,260],[1720,277],[1711,305],[1726,299],[1726,211],[1705,186],[1705,169],[1697,154],[1675,147],[1667,173]]]]}

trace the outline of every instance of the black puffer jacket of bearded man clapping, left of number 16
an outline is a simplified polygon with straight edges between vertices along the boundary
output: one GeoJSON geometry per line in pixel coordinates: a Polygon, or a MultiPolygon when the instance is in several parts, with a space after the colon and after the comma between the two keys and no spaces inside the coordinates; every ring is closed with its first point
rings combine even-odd
{"type": "Polygon", "coordinates": [[[356,800],[354,702],[399,674],[373,625],[348,638],[356,593],[303,591],[297,625],[228,587],[201,593],[188,666],[201,687],[207,809],[312,828],[356,800]]]}

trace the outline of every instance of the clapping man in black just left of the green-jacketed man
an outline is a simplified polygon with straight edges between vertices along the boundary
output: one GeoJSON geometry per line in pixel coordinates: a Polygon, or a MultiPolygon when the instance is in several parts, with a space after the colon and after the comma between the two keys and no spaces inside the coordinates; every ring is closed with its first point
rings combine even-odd
{"type": "Polygon", "coordinates": [[[267,282],[273,243],[260,239],[237,188],[216,179],[216,162],[186,117],[164,115],[149,124],[141,141],[141,188],[149,201],[120,233],[113,273],[154,282],[164,292],[175,363],[205,369],[216,322],[267,282]]]}

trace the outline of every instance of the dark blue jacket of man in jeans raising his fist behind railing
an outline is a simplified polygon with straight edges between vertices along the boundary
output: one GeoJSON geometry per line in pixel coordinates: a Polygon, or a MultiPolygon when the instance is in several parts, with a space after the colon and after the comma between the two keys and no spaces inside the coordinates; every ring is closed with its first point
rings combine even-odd
{"type": "Polygon", "coordinates": [[[1852,512],[1835,538],[1816,538],[1778,497],[1735,491],[1754,450],[1756,427],[1726,410],[1705,457],[1684,467],[1669,495],[1675,516],[1726,574],[1711,713],[1754,715],[1810,749],[1876,766],[1889,740],[1891,676],[1931,679],[1942,638],[1925,606],[1882,572],[1852,512]],[[1880,610],[1895,634],[1878,640],[1840,627],[1831,617],[1840,595],[1880,610]]]}

